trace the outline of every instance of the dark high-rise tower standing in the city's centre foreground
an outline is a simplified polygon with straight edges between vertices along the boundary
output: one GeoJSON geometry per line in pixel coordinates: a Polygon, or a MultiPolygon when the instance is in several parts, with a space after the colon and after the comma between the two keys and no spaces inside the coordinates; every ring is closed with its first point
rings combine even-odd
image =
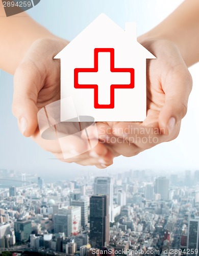
{"type": "Polygon", "coordinates": [[[109,198],[97,195],[90,198],[90,244],[102,248],[109,244],[109,198]]]}

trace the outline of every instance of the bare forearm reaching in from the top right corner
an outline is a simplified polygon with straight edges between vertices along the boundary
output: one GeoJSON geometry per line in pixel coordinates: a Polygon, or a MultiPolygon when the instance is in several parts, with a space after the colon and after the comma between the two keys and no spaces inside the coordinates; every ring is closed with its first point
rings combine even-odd
{"type": "Polygon", "coordinates": [[[173,13],[138,40],[173,41],[189,67],[199,61],[199,1],[185,0],[173,13]]]}

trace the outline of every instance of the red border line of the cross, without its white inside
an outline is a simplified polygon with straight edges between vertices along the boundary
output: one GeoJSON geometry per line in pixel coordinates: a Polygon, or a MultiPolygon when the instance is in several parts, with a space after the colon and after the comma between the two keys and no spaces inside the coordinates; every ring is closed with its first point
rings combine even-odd
{"type": "Polygon", "coordinates": [[[113,48],[95,48],[94,49],[94,68],[77,68],[74,69],[74,88],[76,89],[94,89],[94,108],[95,109],[113,109],[115,89],[133,89],[134,88],[134,69],[133,68],[115,68],[114,67],[114,49],[113,48]],[[110,85],[110,104],[98,103],[98,85],[97,84],[79,84],[78,74],[83,72],[98,72],[98,53],[108,52],[110,53],[110,72],[115,73],[130,73],[130,84],[111,84],[110,85]]]}

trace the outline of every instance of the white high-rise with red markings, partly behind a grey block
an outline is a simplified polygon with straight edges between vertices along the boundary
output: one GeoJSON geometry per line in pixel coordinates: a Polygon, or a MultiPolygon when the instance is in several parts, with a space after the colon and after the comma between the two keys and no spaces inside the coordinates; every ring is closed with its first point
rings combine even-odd
{"type": "Polygon", "coordinates": [[[59,214],[71,216],[71,233],[78,234],[81,230],[81,207],[65,206],[58,210],[59,214]]]}

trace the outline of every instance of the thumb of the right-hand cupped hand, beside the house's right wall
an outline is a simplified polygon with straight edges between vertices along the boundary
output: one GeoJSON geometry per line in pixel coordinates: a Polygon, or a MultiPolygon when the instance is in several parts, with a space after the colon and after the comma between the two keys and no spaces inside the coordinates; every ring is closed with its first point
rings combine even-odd
{"type": "Polygon", "coordinates": [[[163,134],[172,133],[177,122],[187,113],[187,103],[192,89],[192,78],[186,67],[171,70],[162,86],[165,103],[159,114],[159,127],[163,134]],[[184,69],[183,69],[184,68],[184,69]]]}

